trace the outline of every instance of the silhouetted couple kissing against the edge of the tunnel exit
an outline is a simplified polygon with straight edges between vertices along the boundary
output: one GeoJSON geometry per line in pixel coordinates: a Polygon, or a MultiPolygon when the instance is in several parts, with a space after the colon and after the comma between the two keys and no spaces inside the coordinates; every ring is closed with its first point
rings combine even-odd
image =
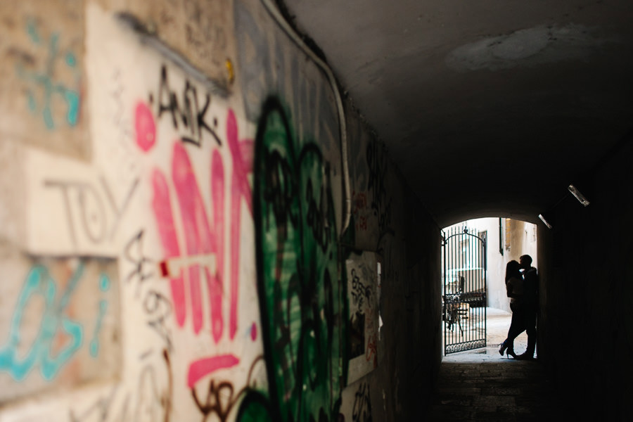
{"type": "Polygon", "coordinates": [[[520,262],[514,260],[506,265],[506,290],[510,298],[512,321],[508,338],[499,345],[499,354],[504,352],[514,359],[534,359],[536,348],[536,316],[539,298],[539,276],[532,267],[532,257],[523,255],[520,262]],[[514,339],[525,331],[528,333],[528,348],[523,354],[514,353],[514,339]]]}

